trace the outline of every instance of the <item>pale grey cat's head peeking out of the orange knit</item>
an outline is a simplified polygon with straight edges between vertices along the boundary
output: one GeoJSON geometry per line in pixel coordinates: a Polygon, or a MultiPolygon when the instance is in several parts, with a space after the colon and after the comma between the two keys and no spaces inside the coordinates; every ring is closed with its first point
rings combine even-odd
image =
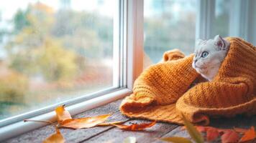
{"type": "Polygon", "coordinates": [[[192,67],[211,82],[218,73],[227,51],[229,51],[229,41],[219,35],[209,40],[198,39],[192,67]]]}

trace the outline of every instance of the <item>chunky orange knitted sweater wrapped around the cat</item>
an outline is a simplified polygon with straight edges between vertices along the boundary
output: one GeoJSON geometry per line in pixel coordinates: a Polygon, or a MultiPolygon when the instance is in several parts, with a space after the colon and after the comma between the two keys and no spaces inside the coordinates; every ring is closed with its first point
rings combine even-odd
{"type": "Polygon", "coordinates": [[[165,62],[150,66],[134,82],[133,94],[120,106],[122,114],[176,124],[183,124],[180,114],[195,124],[209,124],[209,117],[256,114],[256,47],[239,38],[227,40],[228,54],[212,82],[189,89],[200,77],[191,66],[193,55],[168,52],[165,62]]]}

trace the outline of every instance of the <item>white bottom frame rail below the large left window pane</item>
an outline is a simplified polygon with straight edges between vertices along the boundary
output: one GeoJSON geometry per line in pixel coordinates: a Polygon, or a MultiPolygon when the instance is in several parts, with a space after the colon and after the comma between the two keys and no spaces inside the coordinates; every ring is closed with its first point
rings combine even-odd
{"type": "MultiPolygon", "coordinates": [[[[121,99],[127,94],[131,94],[130,89],[120,89],[116,92],[111,92],[109,94],[105,94],[101,97],[96,97],[94,99],[90,99],[86,102],[81,102],[79,104],[74,104],[70,107],[66,107],[68,112],[70,112],[71,115],[80,114],[82,112],[88,111],[90,109],[101,107],[104,104],[109,104],[110,102],[114,102],[117,99],[121,99]]],[[[35,120],[47,120],[51,122],[56,121],[55,112],[49,112],[47,114],[42,114],[40,116],[34,117],[32,119],[35,120]]],[[[3,141],[5,139],[9,139],[11,137],[17,137],[19,134],[24,134],[25,132],[32,131],[33,129],[37,129],[40,127],[45,126],[46,124],[41,123],[33,123],[33,122],[17,122],[14,124],[9,124],[5,127],[0,128],[0,141],[3,141]]]]}

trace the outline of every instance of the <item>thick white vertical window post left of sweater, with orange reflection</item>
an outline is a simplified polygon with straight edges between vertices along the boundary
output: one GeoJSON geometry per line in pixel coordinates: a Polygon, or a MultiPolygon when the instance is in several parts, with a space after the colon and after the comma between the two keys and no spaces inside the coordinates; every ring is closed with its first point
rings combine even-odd
{"type": "Polygon", "coordinates": [[[132,90],[143,69],[143,0],[127,0],[127,88],[132,90]]]}

